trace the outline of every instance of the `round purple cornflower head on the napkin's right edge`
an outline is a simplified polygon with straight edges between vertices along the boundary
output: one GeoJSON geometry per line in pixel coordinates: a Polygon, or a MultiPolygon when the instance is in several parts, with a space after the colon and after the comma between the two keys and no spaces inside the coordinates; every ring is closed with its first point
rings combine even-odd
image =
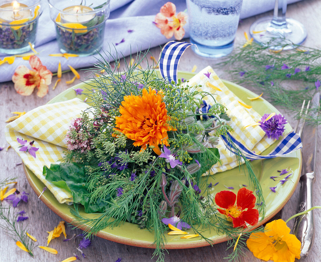
{"type": "Polygon", "coordinates": [[[264,114],[261,118],[260,127],[266,133],[268,138],[279,139],[282,136],[284,131],[284,125],[287,123],[284,116],[281,114],[276,114],[271,117],[269,120],[265,121],[265,119],[269,116],[269,114],[264,114]]]}

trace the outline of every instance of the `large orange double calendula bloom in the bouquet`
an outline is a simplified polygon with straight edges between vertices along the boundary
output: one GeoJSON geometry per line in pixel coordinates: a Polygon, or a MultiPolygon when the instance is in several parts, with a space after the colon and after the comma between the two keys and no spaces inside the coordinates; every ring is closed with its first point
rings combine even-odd
{"type": "Polygon", "coordinates": [[[142,96],[126,96],[119,107],[121,116],[116,117],[115,130],[134,140],[133,145],[145,149],[148,145],[158,148],[169,146],[167,131],[171,131],[167,110],[160,93],[149,88],[142,90],[142,96]]]}

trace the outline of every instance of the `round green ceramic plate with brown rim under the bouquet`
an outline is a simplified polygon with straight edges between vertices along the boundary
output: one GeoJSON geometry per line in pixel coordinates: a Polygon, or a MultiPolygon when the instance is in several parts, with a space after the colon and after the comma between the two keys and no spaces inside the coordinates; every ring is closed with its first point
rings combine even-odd
{"type": "MultiPolygon", "coordinates": [[[[194,75],[195,75],[194,73],[190,73],[190,72],[179,72],[178,76],[179,78],[190,79],[194,75]]],[[[272,112],[279,113],[271,104],[269,104],[267,101],[265,101],[262,98],[256,99],[250,102],[247,99],[247,97],[257,96],[253,92],[239,85],[233,84],[229,81],[223,80],[223,82],[232,92],[234,92],[234,94],[236,94],[243,101],[247,101],[247,103],[250,106],[253,106],[253,108],[261,115],[265,113],[272,113],[272,112]]],[[[49,103],[65,101],[65,100],[74,98],[75,97],[74,89],[76,88],[86,89],[86,86],[88,89],[91,89],[91,87],[86,85],[86,83],[81,83],[74,86],[73,88],[65,90],[64,92],[62,92],[61,94],[53,98],[51,101],[49,101],[49,103]]],[[[291,127],[289,124],[287,124],[286,132],[289,132],[289,131],[291,131],[291,127]]],[[[265,152],[263,152],[263,155],[272,151],[272,149],[276,145],[277,145],[277,141],[265,152]]],[[[287,157],[277,157],[273,159],[256,160],[256,161],[253,161],[252,164],[254,167],[254,172],[261,183],[264,199],[266,202],[265,218],[263,221],[260,221],[257,224],[257,226],[260,226],[261,224],[265,223],[267,220],[272,218],[278,211],[280,211],[280,209],[290,199],[295,188],[297,187],[297,184],[299,182],[300,172],[301,172],[301,152],[296,151],[294,153],[291,153],[291,155],[288,155],[287,157]],[[287,181],[286,183],[281,185],[278,181],[273,181],[272,179],[270,179],[270,176],[277,176],[279,174],[277,170],[281,170],[289,166],[293,171],[293,175],[290,181],[287,181]],[[274,187],[274,186],[277,186],[276,193],[273,193],[269,189],[269,187],[274,187]]],[[[26,167],[25,167],[25,173],[32,189],[39,196],[44,185],[26,167]]],[[[237,193],[240,187],[243,187],[242,184],[246,184],[246,185],[249,184],[247,177],[244,175],[244,173],[239,172],[239,168],[234,168],[232,170],[225,171],[223,173],[217,173],[213,177],[209,178],[208,183],[209,182],[212,182],[212,184],[219,182],[219,184],[213,187],[211,191],[211,195],[213,197],[217,192],[221,190],[226,190],[224,185],[229,187],[231,186],[234,187],[234,190],[232,191],[234,193],[237,193]]],[[[73,221],[74,217],[70,213],[69,206],[66,204],[59,204],[50,191],[46,190],[40,199],[52,211],[54,211],[58,216],[63,218],[65,221],[67,221],[68,223],[71,223],[73,221]]],[[[86,214],[83,212],[83,210],[81,211],[81,214],[88,218],[93,218],[94,216],[97,216],[95,214],[86,214]]],[[[84,230],[85,228],[86,228],[86,224],[84,224],[81,229],[84,230]]],[[[193,232],[191,231],[191,233],[193,232]]],[[[113,229],[106,228],[100,231],[97,235],[101,238],[115,241],[118,243],[123,243],[127,245],[138,246],[138,247],[153,248],[152,243],[154,242],[154,232],[139,229],[137,225],[127,223],[127,222],[125,222],[119,227],[114,227],[113,229]]],[[[216,230],[213,230],[213,229],[205,230],[204,237],[211,239],[213,243],[220,243],[227,240],[225,235],[218,233],[216,232],[216,230]]],[[[166,249],[195,248],[195,247],[202,247],[202,246],[209,245],[208,242],[200,238],[180,239],[180,236],[168,236],[168,235],[166,235],[166,238],[167,238],[166,239],[167,243],[165,244],[166,249]]]]}

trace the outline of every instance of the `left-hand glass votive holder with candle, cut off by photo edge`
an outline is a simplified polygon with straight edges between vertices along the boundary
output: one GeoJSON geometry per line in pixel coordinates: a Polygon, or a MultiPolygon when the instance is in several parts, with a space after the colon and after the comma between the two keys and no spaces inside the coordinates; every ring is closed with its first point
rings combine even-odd
{"type": "Polygon", "coordinates": [[[42,9],[43,0],[0,0],[1,53],[21,54],[34,47],[42,9]]]}

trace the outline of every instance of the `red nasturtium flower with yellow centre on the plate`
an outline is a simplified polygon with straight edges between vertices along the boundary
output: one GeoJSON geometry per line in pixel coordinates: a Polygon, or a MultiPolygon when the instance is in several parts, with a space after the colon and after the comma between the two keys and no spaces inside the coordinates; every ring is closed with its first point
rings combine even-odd
{"type": "Polygon", "coordinates": [[[215,203],[221,208],[217,210],[224,214],[228,219],[233,222],[233,227],[246,228],[246,223],[250,225],[256,225],[259,218],[259,212],[255,207],[256,197],[253,195],[253,191],[241,188],[238,192],[238,196],[232,192],[223,190],[215,195],[215,203]],[[236,204],[235,204],[236,200],[236,204]]]}

